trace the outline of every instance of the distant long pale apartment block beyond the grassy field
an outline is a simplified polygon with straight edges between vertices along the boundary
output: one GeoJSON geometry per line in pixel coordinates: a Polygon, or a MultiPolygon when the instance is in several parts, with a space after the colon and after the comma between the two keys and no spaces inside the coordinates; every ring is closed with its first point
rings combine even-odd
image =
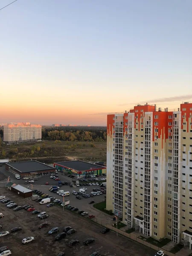
{"type": "Polygon", "coordinates": [[[41,125],[7,124],[3,127],[3,141],[21,143],[41,140],[41,125]]]}

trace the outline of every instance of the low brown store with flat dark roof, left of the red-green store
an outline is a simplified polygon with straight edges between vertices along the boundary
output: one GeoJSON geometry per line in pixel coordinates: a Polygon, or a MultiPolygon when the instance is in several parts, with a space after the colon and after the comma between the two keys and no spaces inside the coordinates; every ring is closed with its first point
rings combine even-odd
{"type": "Polygon", "coordinates": [[[6,163],[6,170],[14,175],[19,174],[21,178],[35,178],[55,173],[55,168],[38,161],[25,161],[16,163],[6,163]]]}

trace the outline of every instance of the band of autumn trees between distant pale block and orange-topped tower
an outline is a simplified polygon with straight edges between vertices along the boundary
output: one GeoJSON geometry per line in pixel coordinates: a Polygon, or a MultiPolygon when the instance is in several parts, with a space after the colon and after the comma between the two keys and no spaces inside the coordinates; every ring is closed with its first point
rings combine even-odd
{"type": "Polygon", "coordinates": [[[95,141],[107,140],[106,127],[103,128],[42,128],[42,140],[95,141]],[[87,131],[89,130],[89,131],[87,131]]]}

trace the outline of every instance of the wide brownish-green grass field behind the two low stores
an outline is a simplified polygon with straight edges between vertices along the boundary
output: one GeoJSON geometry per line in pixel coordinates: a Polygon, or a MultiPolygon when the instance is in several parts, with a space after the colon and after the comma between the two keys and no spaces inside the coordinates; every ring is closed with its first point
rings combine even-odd
{"type": "Polygon", "coordinates": [[[5,145],[0,149],[0,158],[17,161],[37,159],[44,163],[72,159],[106,163],[106,150],[106,142],[42,141],[5,145]]]}

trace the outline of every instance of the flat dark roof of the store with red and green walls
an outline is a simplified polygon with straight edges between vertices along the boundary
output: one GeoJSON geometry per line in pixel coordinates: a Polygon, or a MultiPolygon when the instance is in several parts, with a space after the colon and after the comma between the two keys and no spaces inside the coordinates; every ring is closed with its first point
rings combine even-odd
{"type": "Polygon", "coordinates": [[[58,162],[55,163],[69,169],[74,169],[76,171],[82,172],[87,170],[95,170],[95,169],[106,169],[105,166],[99,166],[93,163],[87,163],[84,161],[74,160],[74,161],[66,161],[66,162],[58,162]]]}

